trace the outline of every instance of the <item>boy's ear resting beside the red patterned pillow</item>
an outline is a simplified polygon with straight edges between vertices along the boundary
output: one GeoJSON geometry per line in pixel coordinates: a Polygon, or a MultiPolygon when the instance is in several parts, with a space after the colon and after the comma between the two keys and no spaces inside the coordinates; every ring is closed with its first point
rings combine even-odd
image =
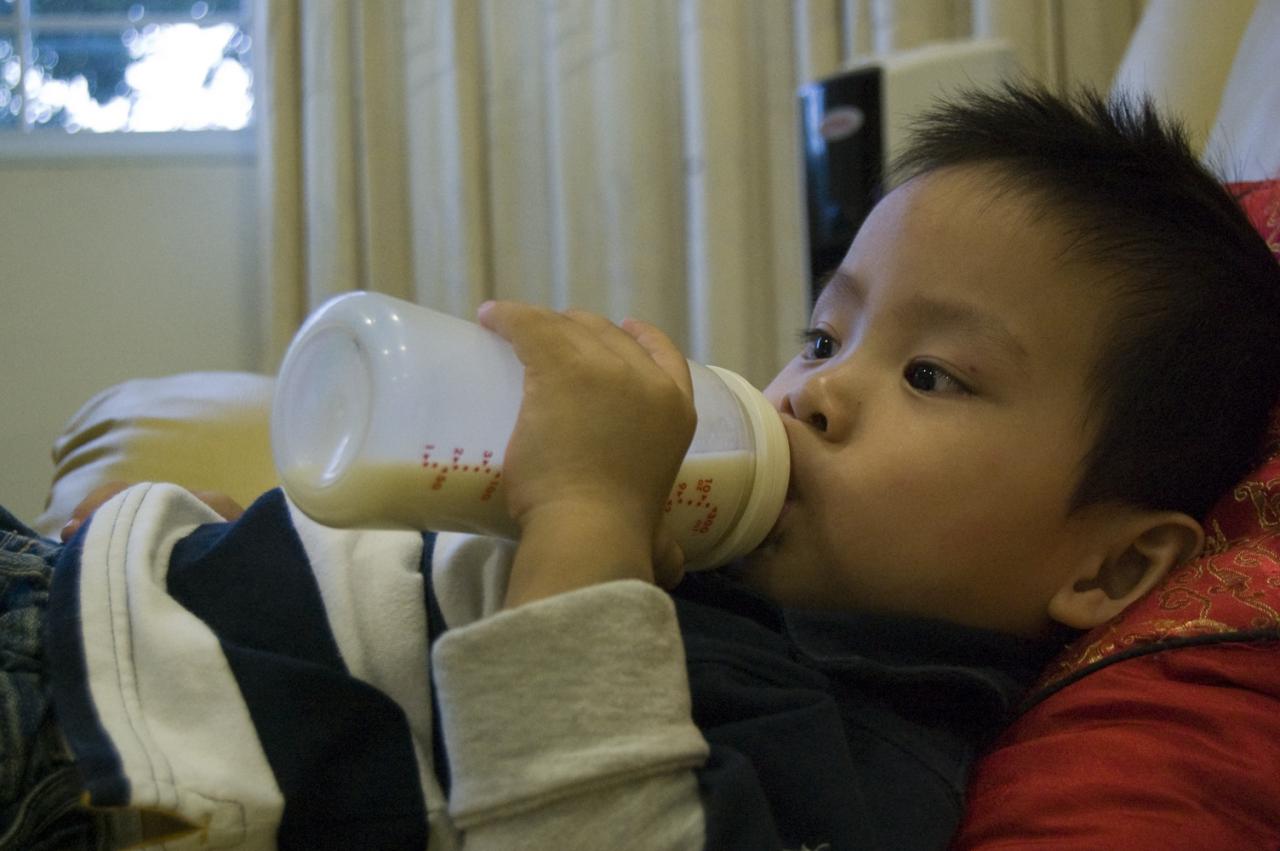
{"type": "Polygon", "coordinates": [[[1204,530],[1181,512],[1119,512],[1103,546],[1082,558],[1050,600],[1048,616],[1059,623],[1076,630],[1106,623],[1204,545],[1204,530]]]}

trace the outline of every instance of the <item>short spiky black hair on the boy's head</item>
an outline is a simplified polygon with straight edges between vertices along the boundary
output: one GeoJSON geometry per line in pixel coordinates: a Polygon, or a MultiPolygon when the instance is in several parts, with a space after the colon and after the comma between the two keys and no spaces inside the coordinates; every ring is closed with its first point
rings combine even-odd
{"type": "Polygon", "coordinates": [[[1280,264],[1184,131],[1146,100],[1012,84],[940,104],[913,129],[896,182],[984,168],[1060,225],[1064,260],[1100,270],[1115,297],[1073,507],[1203,518],[1258,461],[1276,402],[1280,264]]]}

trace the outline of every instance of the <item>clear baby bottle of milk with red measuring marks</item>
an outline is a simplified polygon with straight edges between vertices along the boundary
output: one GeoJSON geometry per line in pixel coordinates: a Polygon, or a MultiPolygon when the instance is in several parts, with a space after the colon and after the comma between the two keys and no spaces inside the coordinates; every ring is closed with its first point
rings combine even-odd
{"type": "MultiPolygon", "coordinates": [[[[698,426],[666,504],[686,569],[755,549],[782,509],[782,421],[741,376],[690,362],[698,426]]],[[[340,527],[515,539],[503,453],[524,367],[493,331],[370,292],[337,296],[298,330],[271,410],[289,499],[340,527]]]]}

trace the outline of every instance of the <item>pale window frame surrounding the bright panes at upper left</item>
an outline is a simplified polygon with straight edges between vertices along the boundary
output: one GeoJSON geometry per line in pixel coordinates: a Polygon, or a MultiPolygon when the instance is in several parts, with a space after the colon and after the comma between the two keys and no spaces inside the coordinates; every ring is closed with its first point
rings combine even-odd
{"type": "Polygon", "coordinates": [[[192,23],[191,15],[175,13],[145,14],[131,19],[128,13],[101,14],[44,14],[36,18],[32,0],[15,0],[13,13],[0,18],[0,33],[10,35],[22,63],[22,73],[15,91],[23,96],[22,114],[15,128],[0,129],[0,165],[22,160],[78,160],[78,159],[156,159],[192,157],[200,160],[228,159],[252,160],[257,151],[257,106],[261,102],[257,87],[261,84],[261,41],[253,3],[244,0],[238,14],[214,13],[200,19],[201,26],[234,23],[253,38],[250,70],[253,74],[253,114],[247,127],[238,131],[91,131],[68,133],[54,128],[35,127],[29,122],[26,102],[26,76],[31,68],[35,33],[40,32],[123,32],[125,27],[147,24],[192,23]]]}

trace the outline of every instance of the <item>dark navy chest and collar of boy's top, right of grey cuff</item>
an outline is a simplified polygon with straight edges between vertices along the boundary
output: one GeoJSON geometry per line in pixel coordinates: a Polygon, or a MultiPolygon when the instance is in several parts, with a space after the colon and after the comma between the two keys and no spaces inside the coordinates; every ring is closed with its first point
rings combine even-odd
{"type": "Polygon", "coordinates": [[[712,745],[699,774],[708,848],[945,848],[975,755],[1060,648],[782,610],[719,573],[689,576],[675,596],[712,745]]]}

